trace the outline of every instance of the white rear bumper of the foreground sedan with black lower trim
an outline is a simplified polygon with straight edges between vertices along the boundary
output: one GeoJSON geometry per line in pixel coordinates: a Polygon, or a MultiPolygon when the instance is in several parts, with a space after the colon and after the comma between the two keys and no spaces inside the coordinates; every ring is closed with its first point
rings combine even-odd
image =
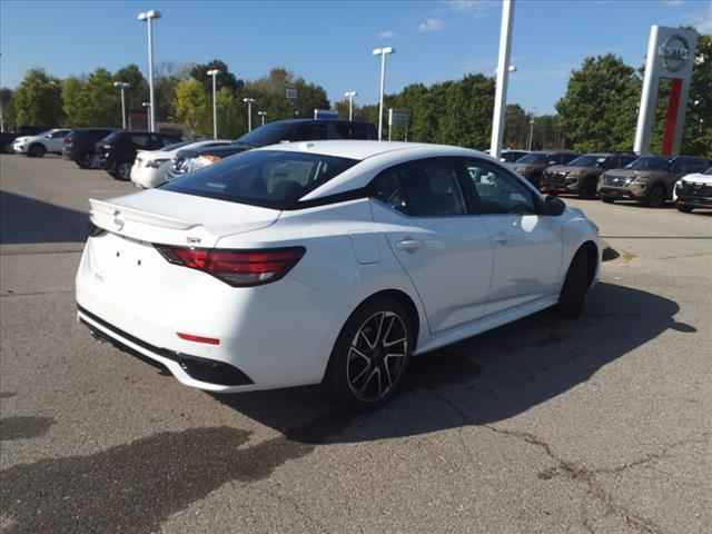
{"type": "Polygon", "coordinates": [[[90,243],[77,273],[76,298],[78,319],[99,336],[159,362],[180,383],[210,392],[322,382],[349,313],[342,301],[289,275],[234,288],[179,266],[170,267],[177,269],[175,291],[151,301],[147,290],[105,281],[92,268],[90,243]],[[178,333],[219,339],[219,345],[186,340],[178,333]]]}

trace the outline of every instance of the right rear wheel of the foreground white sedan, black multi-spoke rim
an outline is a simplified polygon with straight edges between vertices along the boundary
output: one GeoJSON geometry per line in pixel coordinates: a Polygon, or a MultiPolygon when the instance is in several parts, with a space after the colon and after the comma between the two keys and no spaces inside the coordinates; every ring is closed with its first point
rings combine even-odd
{"type": "Polygon", "coordinates": [[[358,307],[334,345],[324,380],[328,393],[358,412],[383,406],[403,382],[413,333],[408,313],[392,298],[375,298],[358,307]]]}

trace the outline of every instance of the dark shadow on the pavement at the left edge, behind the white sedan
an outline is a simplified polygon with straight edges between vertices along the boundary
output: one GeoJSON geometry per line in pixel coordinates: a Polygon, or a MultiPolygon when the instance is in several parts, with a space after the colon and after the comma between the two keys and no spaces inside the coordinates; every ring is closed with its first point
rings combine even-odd
{"type": "Polygon", "coordinates": [[[86,240],[86,212],[0,190],[0,244],[86,240]]]}

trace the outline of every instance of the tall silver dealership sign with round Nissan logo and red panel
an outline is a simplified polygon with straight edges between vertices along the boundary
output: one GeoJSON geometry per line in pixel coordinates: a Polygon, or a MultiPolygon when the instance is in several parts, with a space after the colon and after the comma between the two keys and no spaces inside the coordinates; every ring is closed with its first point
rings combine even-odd
{"type": "Polygon", "coordinates": [[[650,154],[660,83],[664,79],[670,80],[670,97],[661,154],[664,156],[680,154],[696,44],[698,34],[694,30],[651,27],[633,148],[636,154],[641,156],[650,154]]]}

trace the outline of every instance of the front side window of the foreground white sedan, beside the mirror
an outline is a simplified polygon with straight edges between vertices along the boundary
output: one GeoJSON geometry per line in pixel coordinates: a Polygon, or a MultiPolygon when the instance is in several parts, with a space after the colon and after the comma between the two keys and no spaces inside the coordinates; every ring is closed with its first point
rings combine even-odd
{"type": "Polygon", "coordinates": [[[482,215],[535,214],[532,191],[503,169],[478,160],[465,160],[465,170],[475,186],[482,215]]]}

